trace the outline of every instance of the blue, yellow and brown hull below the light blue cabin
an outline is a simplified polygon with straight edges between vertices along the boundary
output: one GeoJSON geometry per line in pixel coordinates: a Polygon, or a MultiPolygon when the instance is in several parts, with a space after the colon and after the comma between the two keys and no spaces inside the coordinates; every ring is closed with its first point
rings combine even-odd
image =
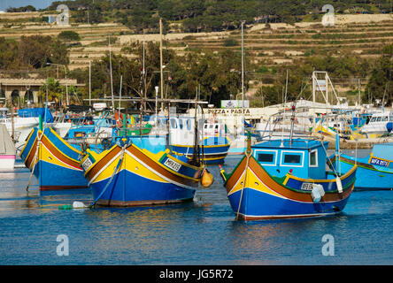
{"type": "Polygon", "coordinates": [[[338,193],[333,180],[301,180],[287,174],[281,183],[274,180],[258,162],[244,157],[227,179],[227,197],[238,218],[244,220],[274,218],[309,218],[341,212],[353,190],[356,166],[342,178],[343,192],[338,193]],[[311,190],[302,184],[320,184],[325,195],[314,202],[311,190]]]}

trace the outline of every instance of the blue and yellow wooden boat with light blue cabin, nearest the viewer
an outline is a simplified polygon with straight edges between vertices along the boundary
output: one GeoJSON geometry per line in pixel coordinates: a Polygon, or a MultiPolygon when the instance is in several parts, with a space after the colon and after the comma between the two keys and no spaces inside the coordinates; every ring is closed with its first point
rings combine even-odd
{"type": "Polygon", "coordinates": [[[325,169],[328,142],[284,139],[249,146],[230,174],[221,170],[236,218],[308,218],[343,211],[356,165],[343,176],[325,169]]]}

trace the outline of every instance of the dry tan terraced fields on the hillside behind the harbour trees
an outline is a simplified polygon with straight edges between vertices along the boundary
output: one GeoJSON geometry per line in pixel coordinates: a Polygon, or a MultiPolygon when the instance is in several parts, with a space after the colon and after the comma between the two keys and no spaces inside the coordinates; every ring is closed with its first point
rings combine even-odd
{"type": "MultiPolygon", "coordinates": [[[[31,17],[40,18],[42,14],[35,12],[31,17]]],[[[58,27],[48,23],[37,25],[27,19],[29,18],[24,13],[15,13],[14,19],[10,13],[0,14],[3,22],[0,36],[18,39],[22,35],[57,35],[64,30],[73,30],[80,34],[81,41],[70,49],[71,70],[87,67],[89,60],[104,56],[109,50],[109,34],[112,35],[114,54],[121,53],[121,49],[130,42],[159,40],[158,34],[132,34],[127,27],[115,23],[58,27]]],[[[240,30],[198,34],[169,33],[164,38],[166,48],[175,50],[178,55],[195,51],[241,49],[240,30]],[[228,39],[232,39],[231,44],[227,43],[228,39]]],[[[339,56],[344,52],[356,53],[360,57],[378,57],[381,46],[389,42],[393,42],[393,15],[390,14],[340,15],[337,16],[334,27],[323,27],[320,23],[312,22],[293,26],[272,23],[268,27],[258,24],[244,30],[246,56],[251,62],[265,66],[293,64],[296,59],[311,55],[339,56]]]]}

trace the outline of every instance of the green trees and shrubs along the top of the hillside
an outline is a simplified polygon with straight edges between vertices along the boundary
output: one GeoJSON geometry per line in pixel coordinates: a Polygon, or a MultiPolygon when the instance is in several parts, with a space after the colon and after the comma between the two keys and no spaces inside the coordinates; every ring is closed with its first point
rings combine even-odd
{"type": "MultiPolygon", "coordinates": [[[[98,23],[112,19],[131,27],[136,32],[148,29],[157,31],[158,18],[165,22],[180,21],[184,32],[209,32],[233,30],[241,21],[247,24],[265,21],[293,24],[301,20],[320,19],[326,1],[313,0],[75,0],[57,1],[49,9],[56,10],[58,4],[66,4],[76,22],[98,23]],[[266,15],[268,15],[266,17],[266,15]]],[[[358,0],[335,1],[335,11],[340,13],[353,7],[366,11],[389,11],[390,2],[378,3],[358,0]]]]}

